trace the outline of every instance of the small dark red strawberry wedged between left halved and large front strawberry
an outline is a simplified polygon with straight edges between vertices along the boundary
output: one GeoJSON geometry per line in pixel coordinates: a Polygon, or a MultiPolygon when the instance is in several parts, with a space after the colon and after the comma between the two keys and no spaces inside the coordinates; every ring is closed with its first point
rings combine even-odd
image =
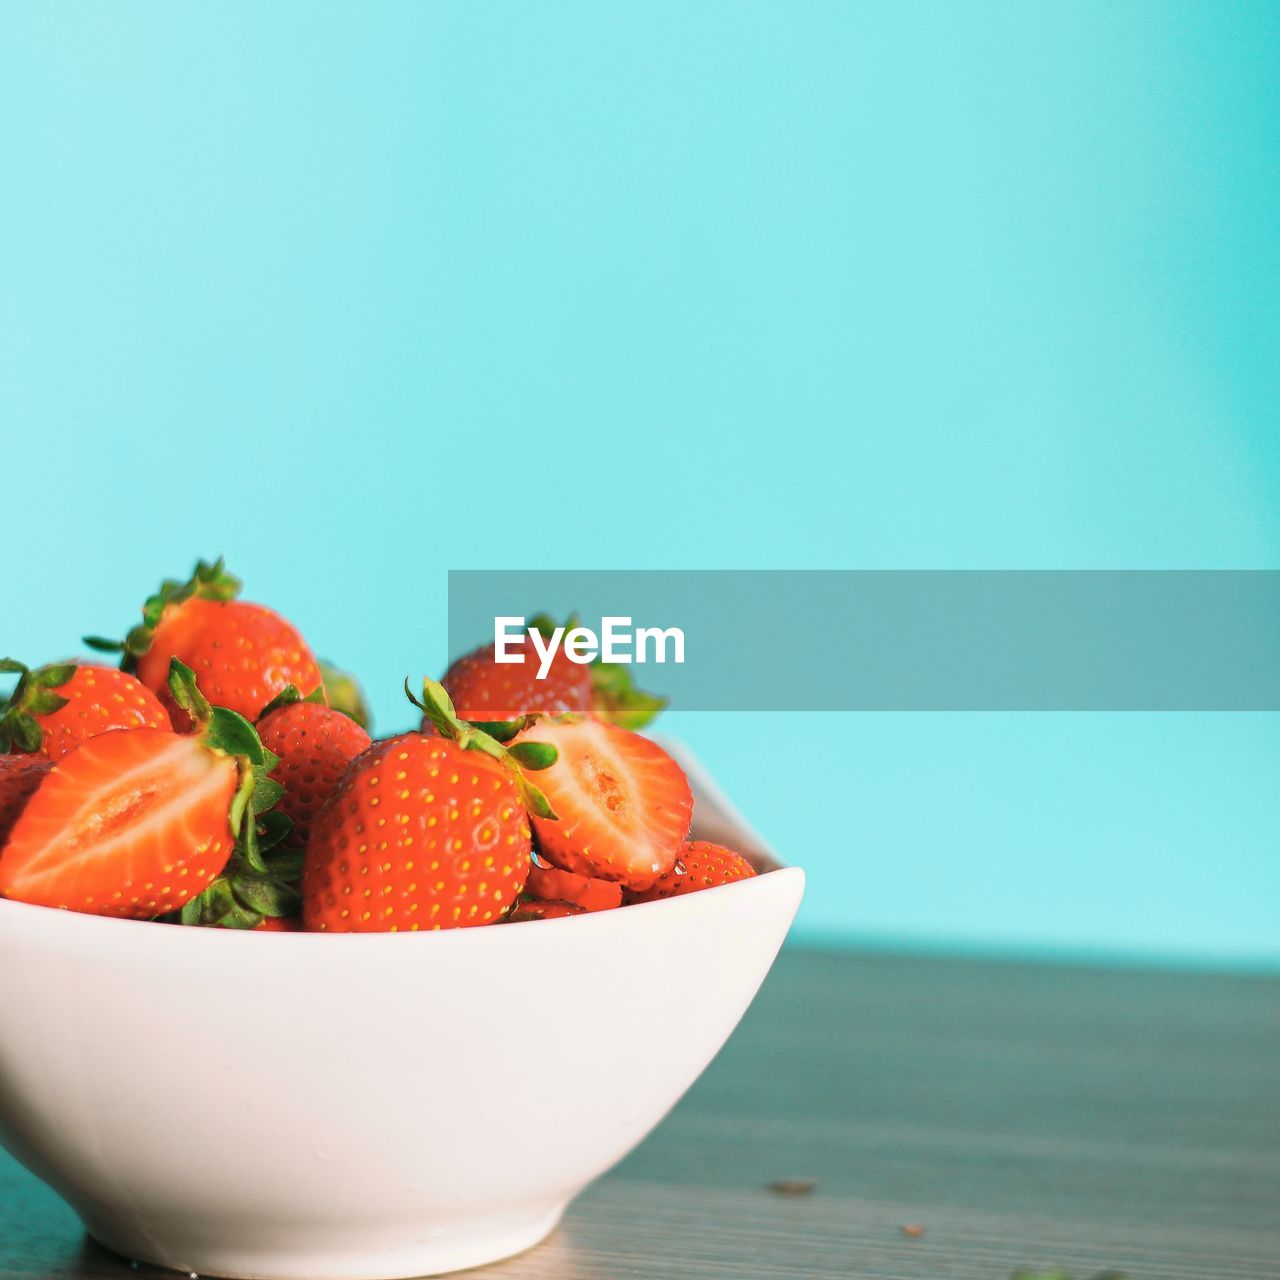
{"type": "Polygon", "coordinates": [[[284,787],[276,809],[293,822],[289,844],[306,849],[311,824],[342,771],[369,749],[370,737],[342,712],[302,700],[292,685],[266,708],[257,732],[262,745],[280,758],[271,777],[284,787]]]}

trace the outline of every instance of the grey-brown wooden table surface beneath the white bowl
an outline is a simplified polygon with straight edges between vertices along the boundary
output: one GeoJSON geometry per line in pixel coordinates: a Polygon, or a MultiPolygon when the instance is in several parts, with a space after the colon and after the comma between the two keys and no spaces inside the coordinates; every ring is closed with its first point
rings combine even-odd
{"type": "MultiPolygon", "coordinates": [[[[470,1275],[1055,1268],[1280,1277],[1280,980],[788,950],[658,1132],[470,1275]]],[[[3,1280],[137,1274],[0,1155],[3,1280]]]]}

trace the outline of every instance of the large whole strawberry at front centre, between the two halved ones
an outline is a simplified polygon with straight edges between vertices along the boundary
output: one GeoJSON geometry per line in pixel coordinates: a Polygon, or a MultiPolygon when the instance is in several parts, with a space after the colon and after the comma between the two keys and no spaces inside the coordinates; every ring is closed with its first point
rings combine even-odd
{"type": "MultiPolygon", "coordinates": [[[[375,742],[347,767],[316,819],[302,874],[308,929],[399,932],[489,924],[529,876],[526,803],[540,795],[515,760],[536,765],[538,744],[508,756],[461,723],[439,685],[419,704],[439,736],[375,742]]],[[[549,812],[541,801],[544,812],[549,812]]]]}

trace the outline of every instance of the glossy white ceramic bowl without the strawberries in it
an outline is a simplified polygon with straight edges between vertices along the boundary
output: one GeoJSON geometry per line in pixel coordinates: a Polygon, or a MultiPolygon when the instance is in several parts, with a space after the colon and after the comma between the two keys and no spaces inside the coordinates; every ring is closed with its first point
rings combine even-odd
{"type": "Polygon", "coordinates": [[[125,1257],[385,1280],[540,1240],[696,1079],[804,888],[430,934],[0,901],[0,1139],[125,1257]]]}

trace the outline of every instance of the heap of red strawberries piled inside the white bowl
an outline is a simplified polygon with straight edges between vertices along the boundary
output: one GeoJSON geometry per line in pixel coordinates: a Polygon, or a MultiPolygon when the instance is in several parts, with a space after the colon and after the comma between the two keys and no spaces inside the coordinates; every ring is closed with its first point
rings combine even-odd
{"type": "MultiPolygon", "coordinates": [[[[416,932],[608,910],[755,874],[689,841],[694,799],[626,668],[458,659],[421,730],[372,741],[358,686],[201,562],[118,667],[6,659],[0,895],[129,919],[416,932]]],[[[535,620],[535,623],[538,620],[535,620]]]]}

